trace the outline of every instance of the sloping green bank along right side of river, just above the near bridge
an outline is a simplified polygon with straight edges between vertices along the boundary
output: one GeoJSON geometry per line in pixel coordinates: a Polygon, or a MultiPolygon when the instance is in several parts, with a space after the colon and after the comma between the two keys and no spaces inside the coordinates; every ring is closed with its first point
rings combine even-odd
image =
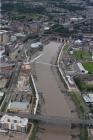
{"type": "Polygon", "coordinates": [[[70,96],[71,96],[73,102],[75,103],[76,110],[77,110],[78,114],[80,115],[80,118],[84,119],[85,115],[89,112],[89,108],[87,107],[84,100],[82,99],[82,97],[79,94],[70,93],[70,96]]]}

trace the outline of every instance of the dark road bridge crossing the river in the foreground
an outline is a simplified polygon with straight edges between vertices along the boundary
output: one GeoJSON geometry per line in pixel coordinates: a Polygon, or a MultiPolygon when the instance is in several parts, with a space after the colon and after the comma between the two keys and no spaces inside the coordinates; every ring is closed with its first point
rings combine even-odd
{"type": "Polygon", "coordinates": [[[90,127],[93,128],[93,120],[88,119],[76,119],[76,118],[68,118],[68,117],[59,117],[59,116],[45,116],[45,115],[33,115],[33,114],[19,114],[19,113],[2,113],[0,112],[0,116],[4,114],[10,116],[18,116],[21,118],[28,118],[31,121],[37,121],[39,123],[56,125],[61,127],[90,127]]]}

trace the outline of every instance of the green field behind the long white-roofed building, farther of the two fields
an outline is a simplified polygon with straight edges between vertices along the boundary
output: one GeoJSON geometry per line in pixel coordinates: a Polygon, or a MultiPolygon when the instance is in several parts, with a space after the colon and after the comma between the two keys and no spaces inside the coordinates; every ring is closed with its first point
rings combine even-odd
{"type": "Polygon", "coordinates": [[[78,50],[78,51],[74,51],[73,57],[77,60],[84,60],[84,59],[87,60],[91,58],[91,54],[86,51],[78,50]]]}

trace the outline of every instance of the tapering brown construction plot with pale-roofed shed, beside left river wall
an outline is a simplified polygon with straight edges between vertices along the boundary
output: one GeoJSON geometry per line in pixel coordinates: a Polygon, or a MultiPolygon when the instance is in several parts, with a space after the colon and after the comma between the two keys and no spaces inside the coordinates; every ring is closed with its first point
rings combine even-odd
{"type": "Polygon", "coordinates": [[[22,70],[19,73],[18,81],[15,90],[12,93],[9,102],[8,112],[23,112],[28,113],[33,111],[34,97],[29,84],[30,73],[27,70],[22,70]]]}

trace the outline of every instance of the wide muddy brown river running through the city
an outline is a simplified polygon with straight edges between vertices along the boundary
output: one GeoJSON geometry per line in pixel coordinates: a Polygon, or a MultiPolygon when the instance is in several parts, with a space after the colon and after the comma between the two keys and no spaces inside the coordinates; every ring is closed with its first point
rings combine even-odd
{"type": "MultiPolygon", "coordinates": [[[[36,86],[43,96],[41,114],[71,117],[69,104],[65,99],[65,95],[61,93],[58,87],[58,83],[51,69],[52,66],[50,65],[52,61],[56,60],[59,47],[61,47],[61,44],[56,42],[51,42],[46,45],[43,50],[43,55],[33,64],[32,73],[37,77],[35,81],[36,86]]],[[[63,83],[61,86],[65,90],[63,83]]],[[[58,135],[57,129],[53,131],[45,127],[44,133],[38,135],[40,140],[70,140],[70,133],[67,134],[65,132],[61,131],[58,135]]]]}

